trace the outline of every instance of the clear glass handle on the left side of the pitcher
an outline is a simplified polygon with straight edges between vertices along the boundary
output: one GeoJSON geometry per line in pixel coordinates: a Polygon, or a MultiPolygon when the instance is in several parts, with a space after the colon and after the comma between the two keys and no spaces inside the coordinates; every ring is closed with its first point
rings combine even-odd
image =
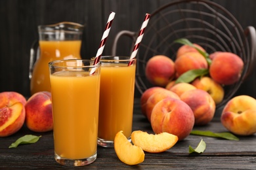
{"type": "Polygon", "coordinates": [[[39,58],[39,42],[36,40],[33,42],[32,47],[30,48],[30,70],[28,78],[32,78],[33,73],[33,65],[35,64],[35,61],[39,58]]]}

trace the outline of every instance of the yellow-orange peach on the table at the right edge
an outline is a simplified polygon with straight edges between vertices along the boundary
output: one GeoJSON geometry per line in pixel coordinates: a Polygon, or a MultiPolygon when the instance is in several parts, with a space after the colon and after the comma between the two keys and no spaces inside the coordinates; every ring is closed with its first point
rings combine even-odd
{"type": "Polygon", "coordinates": [[[230,99],[224,106],[221,123],[236,135],[256,133],[256,99],[249,95],[230,99]]]}

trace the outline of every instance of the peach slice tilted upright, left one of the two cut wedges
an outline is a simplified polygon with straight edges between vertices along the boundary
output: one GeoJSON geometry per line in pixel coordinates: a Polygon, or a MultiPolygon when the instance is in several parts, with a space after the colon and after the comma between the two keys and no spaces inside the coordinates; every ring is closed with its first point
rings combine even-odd
{"type": "Polygon", "coordinates": [[[123,131],[116,133],[114,149],[119,160],[127,165],[137,165],[144,161],[145,154],[142,148],[131,144],[123,135],[123,131]]]}

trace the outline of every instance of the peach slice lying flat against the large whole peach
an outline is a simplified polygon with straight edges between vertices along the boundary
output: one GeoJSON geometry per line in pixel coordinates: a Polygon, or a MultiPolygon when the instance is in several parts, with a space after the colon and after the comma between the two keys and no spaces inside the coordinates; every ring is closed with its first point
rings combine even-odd
{"type": "Polygon", "coordinates": [[[159,153],[173,147],[177,143],[178,137],[167,132],[153,135],[145,131],[133,131],[131,141],[146,152],[159,153]]]}

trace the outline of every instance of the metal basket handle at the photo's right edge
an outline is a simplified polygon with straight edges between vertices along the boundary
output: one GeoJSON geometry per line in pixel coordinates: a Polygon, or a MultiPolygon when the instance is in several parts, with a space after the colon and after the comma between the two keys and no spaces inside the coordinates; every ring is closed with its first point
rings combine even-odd
{"type": "Polygon", "coordinates": [[[245,73],[245,76],[243,78],[243,81],[246,80],[251,73],[253,73],[253,69],[256,65],[256,31],[253,26],[248,26],[245,31],[245,36],[249,37],[250,39],[250,47],[251,47],[251,54],[249,58],[249,66],[247,69],[247,72],[245,73]]]}

